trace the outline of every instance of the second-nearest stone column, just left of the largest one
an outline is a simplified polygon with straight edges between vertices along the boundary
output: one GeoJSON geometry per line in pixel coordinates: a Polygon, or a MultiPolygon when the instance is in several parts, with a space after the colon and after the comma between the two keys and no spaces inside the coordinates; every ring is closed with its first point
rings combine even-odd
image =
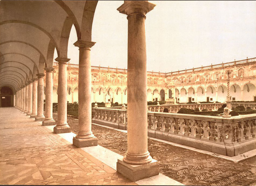
{"type": "Polygon", "coordinates": [[[78,40],[74,43],[79,47],[78,76],[78,127],[79,131],[73,138],[77,147],[96,146],[97,138],[91,131],[91,59],[90,51],[95,42],[78,40]]]}

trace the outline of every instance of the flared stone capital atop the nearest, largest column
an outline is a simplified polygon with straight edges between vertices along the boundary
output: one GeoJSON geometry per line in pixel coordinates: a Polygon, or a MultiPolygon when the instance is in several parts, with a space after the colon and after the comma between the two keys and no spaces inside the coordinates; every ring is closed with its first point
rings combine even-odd
{"type": "Polygon", "coordinates": [[[124,1],[117,9],[120,13],[131,16],[133,14],[141,14],[146,18],[146,14],[154,9],[156,5],[148,1],[124,1]]]}

